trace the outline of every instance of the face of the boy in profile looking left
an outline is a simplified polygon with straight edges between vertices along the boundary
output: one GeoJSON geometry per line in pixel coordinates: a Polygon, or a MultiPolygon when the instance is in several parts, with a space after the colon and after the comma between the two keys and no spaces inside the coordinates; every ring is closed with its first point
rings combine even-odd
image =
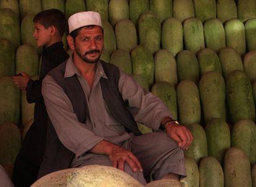
{"type": "Polygon", "coordinates": [[[51,28],[45,28],[38,22],[34,23],[35,31],[33,33],[34,38],[36,39],[36,44],[38,47],[48,47],[51,44],[51,28]]]}

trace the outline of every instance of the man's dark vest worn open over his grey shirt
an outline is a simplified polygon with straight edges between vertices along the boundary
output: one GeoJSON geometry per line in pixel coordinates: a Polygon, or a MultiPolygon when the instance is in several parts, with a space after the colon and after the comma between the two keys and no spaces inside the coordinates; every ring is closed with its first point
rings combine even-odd
{"type": "MultiPolygon", "coordinates": [[[[50,71],[49,75],[54,78],[57,84],[62,87],[67,97],[69,97],[79,122],[84,123],[87,116],[85,94],[76,75],[70,78],[64,78],[66,63],[64,62],[50,71]]],[[[100,63],[103,66],[106,76],[108,76],[108,79],[100,79],[100,85],[109,112],[120,124],[124,125],[127,132],[134,132],[135,135],[141,135],[137,123],[134,121],[134,117],[129,112],[129,106],[122,100],[122,96],[119,93],[119,69],[103,61],[100,63]]],[[[43,158],[38,178],[57,170],[69,168],[73,158],[74,153],[62,145],[54,130],[53,124],[49,121],[45,157],[43,158]]]]}

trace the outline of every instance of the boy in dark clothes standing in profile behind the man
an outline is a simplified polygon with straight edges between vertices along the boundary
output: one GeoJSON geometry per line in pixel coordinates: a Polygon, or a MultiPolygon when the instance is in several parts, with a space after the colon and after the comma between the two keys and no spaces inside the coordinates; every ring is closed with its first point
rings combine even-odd
{"type": "Polygon", "coordinates": [[[43,46],[39,80],[30,76],[14,76],[13,81],[23,92],[27,92],[28,103],[35,102],[34,122],[25,136],[16,158],[12,180],[15,186],[30,186],[36,180],[45,153],[48,114],[41,95],[41,83],[45,75],[69,58],[63,48],[62,36],[66,30],[65,15],[58,9],[49,9],[35,15],[34,38],[38,47],[43,46]]]}

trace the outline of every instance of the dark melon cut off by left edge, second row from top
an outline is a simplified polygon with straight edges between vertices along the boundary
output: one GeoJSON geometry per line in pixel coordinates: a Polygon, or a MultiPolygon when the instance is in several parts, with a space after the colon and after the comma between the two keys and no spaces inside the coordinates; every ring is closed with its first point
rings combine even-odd
{"type": "Polygon", "coordinates": [[[15,49],[20,46],[20,23],[11,9],[0,10],[0,39],[9,39],[15,49]]]}

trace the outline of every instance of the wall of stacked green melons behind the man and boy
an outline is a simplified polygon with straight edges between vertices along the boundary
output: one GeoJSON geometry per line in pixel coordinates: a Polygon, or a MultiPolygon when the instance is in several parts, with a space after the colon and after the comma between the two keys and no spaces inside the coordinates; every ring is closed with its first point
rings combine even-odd
{"type": "Polygon", "coordinates": [[[193,133],[185,151],[189,186],[256,186],[255,0],[0,0],[0,164],[9,168],[14,159],[6,162],[6,155],[19,151],[13,124],[27,132],[33,121],[34,106],[11,77],[38,76],[41,49],[32,20],[50,8],[67,18],[100,12],[101,59],[160,97],[193,133]]]}

